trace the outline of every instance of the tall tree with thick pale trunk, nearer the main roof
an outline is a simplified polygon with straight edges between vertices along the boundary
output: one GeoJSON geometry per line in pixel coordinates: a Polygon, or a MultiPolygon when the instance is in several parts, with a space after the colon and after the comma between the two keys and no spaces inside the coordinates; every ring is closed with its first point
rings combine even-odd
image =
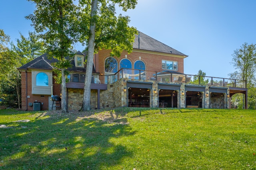
{"type": "Polygon", "coordinates": [[[80,41],[88,47],[82,110],[90,109],[94,53],[103,48],[112,49],[110,55],[116,57],[120,57],[124,50],[132,52],[132,43],[137,31],[128,26],[128,16],[115,16],[116,4],[126,11],[134,9],[137,0],[80,0],[80,5],[84,7],[80,22],[80,27],[84,29],[80,41]]]}

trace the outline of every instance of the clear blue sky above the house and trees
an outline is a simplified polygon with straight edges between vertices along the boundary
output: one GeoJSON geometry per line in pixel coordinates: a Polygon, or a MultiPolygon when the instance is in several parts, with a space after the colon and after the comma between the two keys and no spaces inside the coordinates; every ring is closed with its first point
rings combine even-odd
{"type": "MultiPolygon", "coordinates": [[[[77,0],[76,0],[77,1],[77,0]]],[[[34,31],[30,20],[34,4],[26,0],[2,1],[0,29],[14,43],[19,31],[34,31]]],[[[130,26],[188,55],[184,73],[228,78],[234,72],[232,54],[243,43],[256,43],[255,0],[138,0],[130,26]]],[[[120,10],[117,11],[119,13],[120,10]]],[[[76,50],[84,47],[76,45],[76,50]]]]}

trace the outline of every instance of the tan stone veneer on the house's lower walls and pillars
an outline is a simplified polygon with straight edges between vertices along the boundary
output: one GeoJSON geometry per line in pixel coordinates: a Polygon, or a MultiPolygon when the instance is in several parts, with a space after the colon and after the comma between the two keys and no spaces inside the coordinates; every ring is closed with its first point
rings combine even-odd
{"type": "MultiPolygon", "coordinates": [[[[124,88],[127,87],[126,78],[121,78],[114,84],[108,84],[108,90],[100,90],[100,109],[103,108],[115,108],[115,107],[126,107],[127,106],[127,92],[124,92],[124,88]]],[[[140,82],[153,82],[152,93],[150,93],[150,107],[158,107],[158,81],[152,80],[134,80],[140,82]],[[151,100],[152,99],[152,100],[151,100]]],[[[198,85],[199,86],[199,85],[198,85]]],[[[128,90],[128,89],[126,89],[128,90]]],[[[180,92],[178,92],[178,108],[186,108],[186,92],[185,83],[180,86],[180,92]],[[184,92],[184,94],[182,94],[184,92]]],[[[68,109],[78,110],[82,107],[83,100],[83,89],[68,88],[68,109]]],[[[226,94],[219,97],[210,97],[209,86],[206,85],[205,94],[202,92],[202,108],[226,108],[229,107],[229,98],[226,102],[226,94]],[[208,95],[206,95],[208,94],[208,95]],[[211,101],[210,101],[211,100],[211,101]],[[210,106],[209,106],[210,104],[210,106]]],[[[228,90],[229,94],[229,90],[228,90]]],[[[97,90],[91,90],[91,108],[97,109],[98,94],[97,90]]]]}

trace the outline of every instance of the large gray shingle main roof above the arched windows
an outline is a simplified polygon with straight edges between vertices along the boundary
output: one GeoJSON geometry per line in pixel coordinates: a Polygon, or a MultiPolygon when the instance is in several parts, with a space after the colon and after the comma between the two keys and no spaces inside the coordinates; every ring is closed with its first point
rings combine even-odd
{"type": "Polygon", "coordinates": [[[135,40],[133,43],[134,49],[157,51],[160,53],[169,53],[169,54],[182,55],[182,56],[187,57],[187,55],[180,53],[176,49],[173,49],[172,47],[169,47],[168,45],[165,45],[164,43],[161,43],[160,41],[157,41],[156,39],[140,32],[140,31],[138,31],[138,32],[139,32],[139,34],[135,35],[135,40]],[[139,36],[140,36],[140,47],[139,47],[139,36]]]}

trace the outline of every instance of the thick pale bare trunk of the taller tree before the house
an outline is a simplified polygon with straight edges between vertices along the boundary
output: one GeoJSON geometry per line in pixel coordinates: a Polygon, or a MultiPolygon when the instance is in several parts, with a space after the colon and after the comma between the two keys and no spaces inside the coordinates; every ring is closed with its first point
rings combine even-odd
{"type": "Polygon", "coordinates": [[[95,40],[95,29],[96,23],[93,19],[97,12],[97,0],[92,0],[92,10],[91,10],[91,21],[90,23],[90,35],[88,40],[88,56],[86,63],[86,74],[84,80],[84,96],[82,110],[90,110],[90,99],[91,99],[91,82],[92,82],[92,67],[93,67],[93,57],[94,57],[94,40],[95,40]]]}

